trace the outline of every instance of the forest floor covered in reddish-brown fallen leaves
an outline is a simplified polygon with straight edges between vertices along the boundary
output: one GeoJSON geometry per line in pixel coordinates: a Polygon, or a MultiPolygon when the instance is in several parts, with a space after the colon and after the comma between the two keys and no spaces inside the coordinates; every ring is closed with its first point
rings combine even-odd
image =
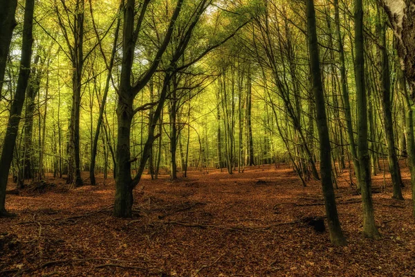
{"type": "Polygon", "coordinates": [[[56,187],[44,193],[8,195],[17,217],[0,218],[0,276],[414,276],[407,168],[405,201],[391,199],[389,176],[387,193],[383,176],[374,177],[380,240],[363,238],[348,176],[335,191],[346,247],[306,223],[324,217],[320,182],[303,188],[283,166],[193,171],[177,181],[146,176],[129,220],[111,215],[112,179],[70,190],[50,178],[56,187]]]}

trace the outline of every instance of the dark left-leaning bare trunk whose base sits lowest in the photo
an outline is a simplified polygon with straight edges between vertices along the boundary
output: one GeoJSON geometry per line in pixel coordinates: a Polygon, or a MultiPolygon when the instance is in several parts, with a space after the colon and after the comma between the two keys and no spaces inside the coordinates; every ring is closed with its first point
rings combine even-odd
{"type": "Polygon", "coordinates": [[[317,31],[315,26],[314,1],[306,1],[308,47],[311,59],[311,73],[313,76],[313,93],[315,98],[315,108],[317,112],[317,129],[320,138],[320,175],[322,178],[322,188],[324,202],[326,206],[327,221],[329,222],[330,240],[335,245],[346,244],[340,226],[338,211],[335,204],[333,181],[331,179],[331,146],[329,138],[329,127],[327,125],[326,109],[324,104],[324,94],[322,78],[320,75],[320,60],[318,53],[317,31]]]}

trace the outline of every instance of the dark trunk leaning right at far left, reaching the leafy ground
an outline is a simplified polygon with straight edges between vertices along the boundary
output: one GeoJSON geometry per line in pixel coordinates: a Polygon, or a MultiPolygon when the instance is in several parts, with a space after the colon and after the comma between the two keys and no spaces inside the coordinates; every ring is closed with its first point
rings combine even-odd
{"type": "MultiPolygon", "coordinates": [[[[35,0],[27,0],[24,12],[23,40],[21,44],[21,61],[19,78],[15,98],[10,108],[10,116],[4,137],[3,148],[0,158],[0,217],[10,215],[6,211],[6,187],[10,164],[12,163],[13,152],[16,146],[17,132],[19,129],[21,110],[26,96],[26,87],[30,75],[30,60],[32,57],[33,46],[33,10],[35,0]]],[[[2,27],[3,28],[3,27],[2,27]]]]}

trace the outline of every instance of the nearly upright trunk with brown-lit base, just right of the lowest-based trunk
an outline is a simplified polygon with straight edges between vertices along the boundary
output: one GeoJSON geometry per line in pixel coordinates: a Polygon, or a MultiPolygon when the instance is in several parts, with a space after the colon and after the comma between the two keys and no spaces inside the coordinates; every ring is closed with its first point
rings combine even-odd
{"type": "Polygon", "coordinates": [[[360,190],[363,204],[363,233],[367,238],[379,238],[371,197],[371,174],[367,142],[367,96],[365,91],[365,51],[363,42],[363,5],[355,0],[356,95],[358,108],[358,158],[360,190]]]}

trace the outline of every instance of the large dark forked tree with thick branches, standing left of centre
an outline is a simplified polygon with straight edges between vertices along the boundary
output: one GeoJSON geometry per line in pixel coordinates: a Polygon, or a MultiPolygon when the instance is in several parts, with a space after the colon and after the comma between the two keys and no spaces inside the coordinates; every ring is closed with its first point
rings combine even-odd
{"type": "MultiPolygon", "coordinates": [[[[116,150],[116,163],[117,163],[117,173],[116,173],[116,201],[114,205],[114,215],[116,217],[131,217],[132,215],[132,206],[133,206],[133,188],[140,181],[142,172],[138,172],[134,179],[131,179],[131,153],[130,153],[130,136],[131,136],[131,122],[134,114],[140,109],[133,109],[133,100],[136,98],[137,94],[147,85],[152,75],[154,75],[160,61],[162,59],[163,53],[170,42],[172,33],[174,30],[174,24],[178,15],[181,12],[183,0],[178,0],[176,3],[176,8],[174,9],[173,15],[170,19],[169,26],[167,28],[167,33],[163,42],[160,44],[156,57],[154,61],[151,62],[149,69],[141,75],[141,78],[131,86],[131,77],[133,71],[133,55],[134,48],[136,46],[136,41],[140,33],[140,28],[142,21],[147,12],[147,6],[149,5],[149,0],[145,0],[142,3],[141,10],[138,13],[138,19],[136,20],[135,9],[136,1],[127,0],[124,6],[124,28],[123,28],[123,42],[122,42],[122,69],[120,77],[120,88],[118,93],[118,109],[117,109],[117,118],[118,118],[118,140],[117,140],[117,150],[116,150]],[[134,23],[136,23],[136,28],[134,29],[134,23]]],[[[167,92],[166,92],[167,93],[167,92]]],[[[161,98],[162,96],[160,96],[161,98]]],[[[160,104],[160,103],[159,103],[160,104]]],[[[147,105],[148,106],[148,105],[147,105]]],[[[146,107],[147,107],[146,106],[146,107]]],[[[152,105],[151,105],[152,106],[152,105]]],[[[159,105],[160,106],[160,105],[159,105]]],[[[162,106],[163,107],[163,106],[162,106]]],[[[157,107],[153,120],[157,121],[158,116],[160,116],[161,107],[157,107]],[[157,115],[158,113],[158,115],[157,115]]],[[[151,126],[152,127],[152,126],[151,126]]],[[[152,146],[154,141],[152,134],[149,134],[147,142],[149,146],[152,146]]],[[[147,145],[146,145],[147,146],[147,145]]],[[[148,146],[148,147],[149,147],[148,146]]],[[[147,147],[147,148],[148,148],[147,147]]],[[[149,150],[147,150],[149,151],[149,150]]],[[[142,154],[142,157],[145,157],[145,153],[142,154]]],[[[147,157],[145,157],[147,162],[147,157]]],[[[144,170],[144,166],[143,170],[144,170]]]]}

